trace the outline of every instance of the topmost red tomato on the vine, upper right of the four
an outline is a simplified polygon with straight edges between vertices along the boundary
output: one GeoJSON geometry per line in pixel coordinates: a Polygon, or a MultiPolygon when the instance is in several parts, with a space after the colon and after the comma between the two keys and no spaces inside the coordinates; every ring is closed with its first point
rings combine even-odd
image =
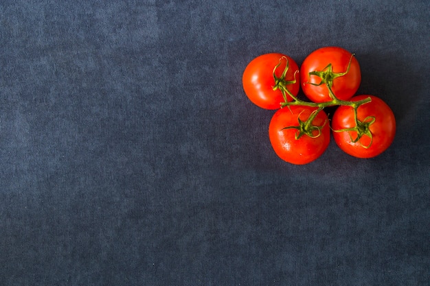
{"type": "Polygon", "coordinates": [[[332,100],[328,85],[332,85],[332,92],[338,99],[348,100],[360,86],[359,62],[352,53],[340,47],[317,49],[304,60],[300,68],[300,82],[304,94],[312,102],[332,100]]]}

